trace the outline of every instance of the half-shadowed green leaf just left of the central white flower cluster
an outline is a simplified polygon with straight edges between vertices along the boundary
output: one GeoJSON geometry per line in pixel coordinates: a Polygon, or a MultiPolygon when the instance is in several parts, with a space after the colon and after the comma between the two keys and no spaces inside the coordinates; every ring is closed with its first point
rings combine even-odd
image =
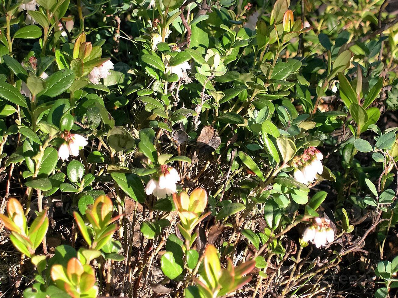
{"type": "Polygon", "coordinates": [[[123,192],[125,192],[129,197],[139,203],[145,202],[146,195],[144,193],[144,185],[138,175],[132,173],[113,172],[111,173],[111,176],[121,190],[123,190],[123,192]]]}

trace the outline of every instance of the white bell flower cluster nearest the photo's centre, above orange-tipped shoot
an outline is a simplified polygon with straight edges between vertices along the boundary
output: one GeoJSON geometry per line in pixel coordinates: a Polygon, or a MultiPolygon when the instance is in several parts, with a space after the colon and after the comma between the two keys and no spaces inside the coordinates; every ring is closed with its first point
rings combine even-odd
{"type": "Polygon", "coordinates": [[[146,194],[164,198],[176,193],[176,183],[180,181],[177,170],[171,166],[162,165],[160,175],[149,180],[146,194]]]}

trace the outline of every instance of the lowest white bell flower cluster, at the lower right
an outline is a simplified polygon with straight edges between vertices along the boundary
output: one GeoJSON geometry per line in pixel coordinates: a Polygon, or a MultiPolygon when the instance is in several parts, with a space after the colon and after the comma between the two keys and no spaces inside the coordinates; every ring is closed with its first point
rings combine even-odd
{"type": "Polygon", "coordinates": [[[305,229],[302,240],[312,242],[316,248],[326,246],[334,241],[334,230],[330,227],[330,220],[324,217],[314,218],[313,224],[305,229]]]}

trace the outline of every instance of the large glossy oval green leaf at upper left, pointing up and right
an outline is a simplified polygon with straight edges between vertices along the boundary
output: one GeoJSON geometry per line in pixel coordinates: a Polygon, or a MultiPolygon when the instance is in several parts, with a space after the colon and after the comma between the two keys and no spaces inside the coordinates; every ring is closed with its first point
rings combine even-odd
{"type": "Polygon", "coordinates": [[[75,74],[71,69],[62,69],[50,75],[47,80],[47,89],[38,96],[56,97],[66,91],[73,83],[75,74]]]}

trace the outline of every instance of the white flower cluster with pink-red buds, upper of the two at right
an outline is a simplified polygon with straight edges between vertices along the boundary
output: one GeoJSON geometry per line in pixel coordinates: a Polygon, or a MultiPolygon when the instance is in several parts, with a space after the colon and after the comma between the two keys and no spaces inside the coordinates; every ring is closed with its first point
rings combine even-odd
{"type": "Polygon", "coordinates": [[[304,153],[293,161],[295,170],[293,176],[298,182],[310,184],[323,172],[323,155],[315,147],[304,150],[304,153]]]}

